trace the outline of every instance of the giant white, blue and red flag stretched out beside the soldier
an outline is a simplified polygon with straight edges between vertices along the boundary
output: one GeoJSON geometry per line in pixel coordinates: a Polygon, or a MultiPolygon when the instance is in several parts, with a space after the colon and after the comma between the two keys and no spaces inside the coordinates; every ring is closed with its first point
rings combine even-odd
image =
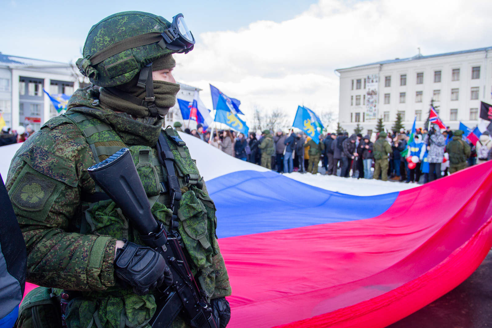
{"type": "Polygon", "coordinates": [[[228,328],[386,327],[458,286],[491,249],[492,161],[363,197],[181,137],[217,208],[228,328]]]}

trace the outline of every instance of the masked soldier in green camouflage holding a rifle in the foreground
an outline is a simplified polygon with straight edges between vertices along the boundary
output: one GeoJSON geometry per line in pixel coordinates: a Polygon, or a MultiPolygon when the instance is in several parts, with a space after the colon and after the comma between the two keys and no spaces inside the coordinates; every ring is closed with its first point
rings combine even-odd
{"type": "MultiPolygon", "coordinates": [[[[50,299],[58,299],[60,306],[62,290],[78,291],[65,309],[68,328],[150,327],[156,308],[153,288],[169,285],[169,269],[164,264],[167,270],[155,272],[157,266],[145,258],[159,262],[160,254],[141,246],[138,233],[87,168],[129,148],[152,212],[169,230],[171,199],[160,184],[167,175],[156,152],[161,133],[175,157],[183,194],[178,232],[190,267],[211,299],[217,326],[227,325],[225,296],[231,287],[215,239],[215,205],[187,147],[171,141],[169,136],[178,133],[162,130],[180,89],[171,73],[172,54],[192,49],[192,44],[165,40],[162,35],[170,28],[164,18],[143,12],[115,14],[93,26],[84,58],[77,61],[93,85],[75,91],[67,112],[46,122],[12,160],[6,187],[28,249],[27,281],[46,286],[25,298],[18,327],[60,327],[48,307],[50,299]],[[138,251],[128,255],[127,249],[138,251]],[[154,277],[146,290],[135,288],[140,273],[114,265],[124,256],[133,256],[132,263],[154,277]]],[[[171,327],[188,326],[178,316],[171,327]]]]}

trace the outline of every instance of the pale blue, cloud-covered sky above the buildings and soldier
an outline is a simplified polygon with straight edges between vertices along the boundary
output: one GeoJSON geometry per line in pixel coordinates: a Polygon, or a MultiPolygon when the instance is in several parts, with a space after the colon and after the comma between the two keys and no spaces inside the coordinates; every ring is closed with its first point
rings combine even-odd
{"type": "Polygon", "coordinates": [[[338,112],[336,68],[492,46],[490,0],[10,1],[0,0],[0,52],[67,62],[79,57],[92,25],[140,10],[168,20],[183,13],[197,39],[175,55],[179,82],[209,83],[242,101],[338,112]]]}

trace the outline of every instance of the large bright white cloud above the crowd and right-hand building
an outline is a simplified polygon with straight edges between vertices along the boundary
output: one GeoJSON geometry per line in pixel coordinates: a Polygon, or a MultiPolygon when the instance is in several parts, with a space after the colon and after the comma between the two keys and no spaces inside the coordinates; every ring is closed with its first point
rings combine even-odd
{"type": "Polygon", "coordinates": [[[246,29],[202,33],[201,44],[176,55],[175,76],[242,101],[295,114],[305,104],[338,112],[334,69],[373,61],[491,46],[492,1],[320,0],[299,16],[280,23],[258,21],[246,29]]]}

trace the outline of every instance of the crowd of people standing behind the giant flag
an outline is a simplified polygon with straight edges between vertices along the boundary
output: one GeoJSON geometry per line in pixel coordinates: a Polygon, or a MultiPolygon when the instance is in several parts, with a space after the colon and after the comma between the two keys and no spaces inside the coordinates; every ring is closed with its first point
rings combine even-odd
{"type": "MultiPolygon", "coordinates": [[[[181,123],[175,128],[181,130],[181,123]]],[[[247,136],[232,130],[185,129],[210,145],[236,158],[261,165],[278,173],[321,173],[344,178],[381,179],[426,183],[492,158],[492,139],[486,131],[475,144],[462,140],[463,131],[433,125],[410,131],[372,135],[347,132],[321,135],[316,143],[302,132],[270,130],[247,136]],[[374,168],[372,170],[372,168],[374,168]]]]}

